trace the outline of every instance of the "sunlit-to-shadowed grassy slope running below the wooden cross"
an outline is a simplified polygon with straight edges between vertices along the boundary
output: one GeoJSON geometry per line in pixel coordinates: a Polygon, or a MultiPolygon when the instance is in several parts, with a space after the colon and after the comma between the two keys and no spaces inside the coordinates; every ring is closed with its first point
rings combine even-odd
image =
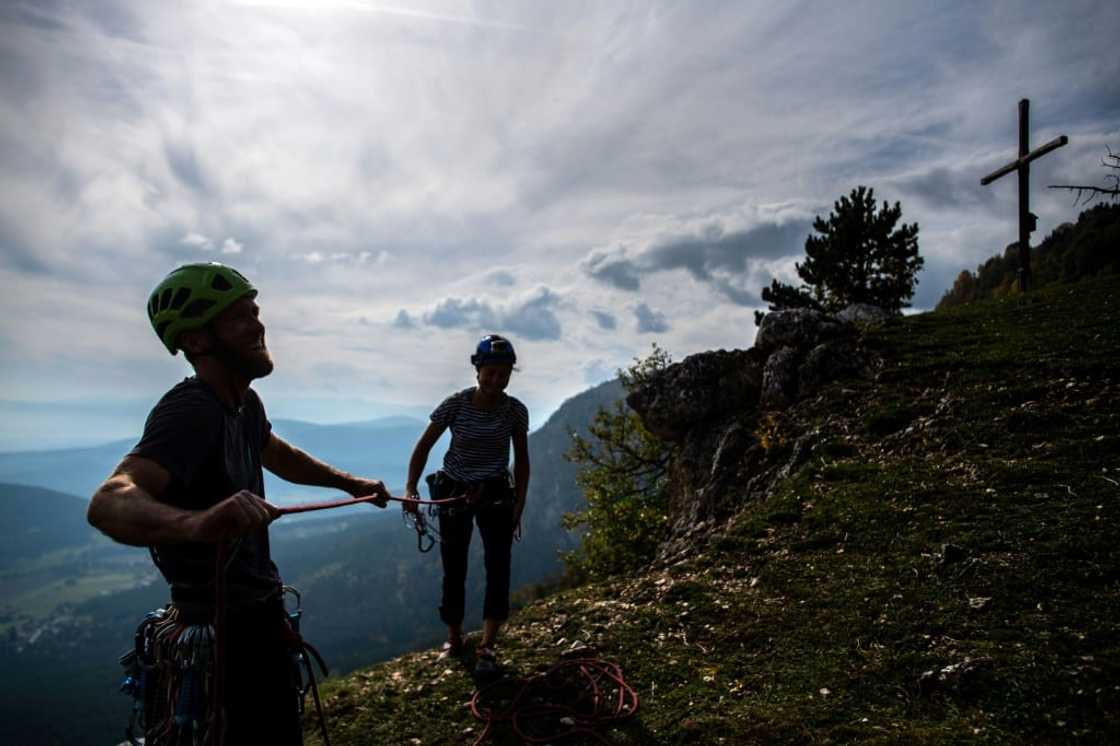
{"type": "MultiPolygon", "coordinates": [[[[1117,743],[1118,329],[1102,280],[871,334],[878,380],[781,420],[818,431],[800,470],[694,557],[515,614],[510,669],[596,645],[642,697],[618,744],[1117,743]]],[[[333,742],[470,743],[473,690],[433,652],[329,681],[333,742]]]]}

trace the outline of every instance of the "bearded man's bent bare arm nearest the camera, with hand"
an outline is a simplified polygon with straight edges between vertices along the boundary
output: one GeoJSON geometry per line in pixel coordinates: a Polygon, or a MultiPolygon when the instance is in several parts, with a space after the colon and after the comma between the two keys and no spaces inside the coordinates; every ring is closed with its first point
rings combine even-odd
{"type": "Polygon", "coordinates": [[[158,500],[170,482],[171,475],[156,461],[128,456],[90,500],[86,519],[114,541],[149,547],[239,537],[278,515],[274,506],[248,491],[205,511],[175,507],[158,500]]]}

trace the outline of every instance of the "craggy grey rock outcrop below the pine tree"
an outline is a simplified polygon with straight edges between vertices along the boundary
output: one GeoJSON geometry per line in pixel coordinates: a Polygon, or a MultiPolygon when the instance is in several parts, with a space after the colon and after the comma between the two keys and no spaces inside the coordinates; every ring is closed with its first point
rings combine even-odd
{"type": "Polygon", "coordinates": [[[716,528],[744,500],[766,492],[812,453],[811,438],[773,448],[758,436],[762,417],[780,413],[819,386],[860,375],[869,356],[859,324],[892,316],[878,309],[772,311],[754,347],[690,355],[653,375],[626,398],[645,428],[674,444],[669,469],[673,516],[663,557],[716,528]]]}

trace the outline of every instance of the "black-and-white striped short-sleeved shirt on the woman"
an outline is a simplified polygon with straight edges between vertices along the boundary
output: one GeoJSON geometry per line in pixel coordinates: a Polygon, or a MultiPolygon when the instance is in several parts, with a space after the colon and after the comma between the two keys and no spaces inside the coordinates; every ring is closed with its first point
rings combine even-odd
{"type": "Polygon", "coordinates": [[[505,395],[494,409],[470,403],[475,389],[451,394],[431,413],[431,421],[451,429],[451,446],[444,470],[457,482],[480,482],[505,474],[510,466],[510,438],[529,432],[529,410],[505,395]]]}

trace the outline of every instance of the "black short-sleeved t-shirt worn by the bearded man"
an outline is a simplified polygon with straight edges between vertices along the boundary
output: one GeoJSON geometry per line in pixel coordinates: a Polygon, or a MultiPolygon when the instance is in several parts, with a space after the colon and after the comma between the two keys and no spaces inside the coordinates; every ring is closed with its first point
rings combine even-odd
{"type": "MultiPolygon", "coordinates": [[[[149,458],[171,474],[162,502],[202,511],[240,489],[264,497],[261,451],[271,431],[264,405],[252,389],[240,408],[230,410],[208,384],[189,377],[151,410],[143,437],[130,455],[149,458]]],[[[214,544],[161,544],[152,547],[152,557],[171,586],[172,599],[213,602],[214,544]]],[[[236,543],[226,584],[232,604],[279,593],[280,574],[269,553],[267,528],[236,543]]]]}

